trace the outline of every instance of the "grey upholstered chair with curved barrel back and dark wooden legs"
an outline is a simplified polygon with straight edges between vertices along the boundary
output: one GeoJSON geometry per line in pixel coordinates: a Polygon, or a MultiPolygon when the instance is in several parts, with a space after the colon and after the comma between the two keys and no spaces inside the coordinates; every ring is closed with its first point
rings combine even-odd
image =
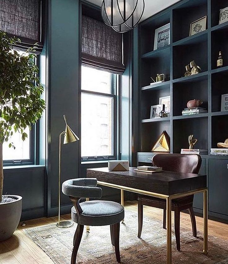
{"type": "Polygon", "coordinates": [[[124,219],[124,207],[111,201],[81,202],[81,198],[101,198],[102,189],[97,187],[97,179],[78,178],[65,181],[62,191],[68,195],[73,203],[71,208],[72,220],[77,223],[73,239],[73,252],[71,264],[76,263],[77,251],[81,242],[84,225],[104,226],[110,225],[111,241],[115,246],[116,260],[120,262],[120,222],[124,219]]]}

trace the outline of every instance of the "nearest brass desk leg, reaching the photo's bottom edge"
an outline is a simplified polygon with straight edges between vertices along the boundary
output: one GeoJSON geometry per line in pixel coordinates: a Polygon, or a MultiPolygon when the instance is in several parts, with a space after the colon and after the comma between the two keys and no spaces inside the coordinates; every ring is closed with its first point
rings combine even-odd
{"type": "Polygon", "coordinates": [[[167,223],[167,264],[172,263],[172,233],[171,233],[171,198],[166,198],[166,223],[167,223]]]}

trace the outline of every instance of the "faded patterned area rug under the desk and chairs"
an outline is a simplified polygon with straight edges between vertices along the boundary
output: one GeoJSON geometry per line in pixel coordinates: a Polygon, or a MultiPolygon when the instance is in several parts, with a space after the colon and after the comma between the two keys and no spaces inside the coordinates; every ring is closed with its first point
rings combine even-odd
{"type": "MultiPolygon", "coordinates": [[[[72,241],[76,230],[61,229],[55,224],[24,229],[31,238],[55,264],[70,264],[72,241]]],[[[137,237],[137,214],[125,210],[125,223],[120,227],[120,254],[122,264],[162,264],[166,263],[166,230],[162,222],[145,217],[143,219],[142,238],[137,237]]],[[[209,236],[209,253],[205,256],[203,249],[203,234],[192,236],[191,227],[181,228],[181,252],[176,249],[176,241],[172,232],[173,263],[214,264],[228,263],[228,241],[209,236]]],[[[111,244],[110,228],[90,227],[90,233],[82,236],[77,254],[77,264],[113,264],[117,263],[114,247],[111,244]]]]}

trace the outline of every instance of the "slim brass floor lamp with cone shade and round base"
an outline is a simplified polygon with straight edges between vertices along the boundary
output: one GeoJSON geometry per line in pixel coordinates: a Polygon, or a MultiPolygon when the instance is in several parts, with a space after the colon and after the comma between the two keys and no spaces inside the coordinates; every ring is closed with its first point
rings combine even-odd
{"type": "Polygon", "coordinates": [[[72,221],[60,221],[60,191],[61,191],[61,147],[62,147],[62,135],[64,135],[64,144],[72,143],[78,141],[79,138],[77,135],[72,131],[72,129],[68,126],[66,116],[64,115],[64,120],[66,123],[66,129],[59,135],[59,219],[58,223],[56,224],[57,227],[60,228],[68,228],[73,226],[72,221]]]}

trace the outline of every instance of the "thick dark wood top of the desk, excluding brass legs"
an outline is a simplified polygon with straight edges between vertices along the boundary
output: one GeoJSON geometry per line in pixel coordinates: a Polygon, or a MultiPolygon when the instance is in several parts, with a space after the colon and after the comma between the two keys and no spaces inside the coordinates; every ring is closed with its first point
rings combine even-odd
{"type": "Polygon", "coordinates": [[[178,194],[207,186],[206,175],[180,172],[109,171],[108,168],[87,169],[88,178],[159,194],[178,194]]]}

